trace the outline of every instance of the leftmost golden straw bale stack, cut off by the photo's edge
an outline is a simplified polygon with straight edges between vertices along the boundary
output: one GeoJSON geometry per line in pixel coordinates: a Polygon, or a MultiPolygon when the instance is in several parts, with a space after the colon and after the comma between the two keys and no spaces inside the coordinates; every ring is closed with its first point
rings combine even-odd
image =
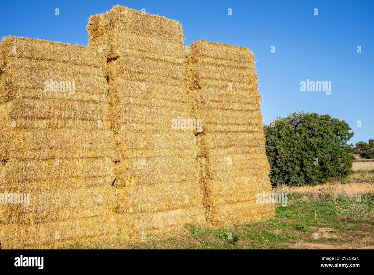
{"type": "Polygon", "coordinates": [[[1,212],[1,248],[115,237],[104,55],[19,37],[0,49],[0,192],[26,194],[1,212]]]}

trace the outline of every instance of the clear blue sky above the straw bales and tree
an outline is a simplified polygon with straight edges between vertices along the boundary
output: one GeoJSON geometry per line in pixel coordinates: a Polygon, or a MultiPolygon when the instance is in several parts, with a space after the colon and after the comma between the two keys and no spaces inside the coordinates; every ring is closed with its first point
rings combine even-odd
{"type": "Polygon", "coordinates": [[[374,139],[374,1],[0,0],[0,35],[87,45],[89,16],[116,4],[180,21],[186,45],[205,39],[251,49],[264,123],[292,111],[318,112],[345,120],[352,143],[374,139]],[[301,92],[307,78],[331,81],[331,95],[301,92]]]}

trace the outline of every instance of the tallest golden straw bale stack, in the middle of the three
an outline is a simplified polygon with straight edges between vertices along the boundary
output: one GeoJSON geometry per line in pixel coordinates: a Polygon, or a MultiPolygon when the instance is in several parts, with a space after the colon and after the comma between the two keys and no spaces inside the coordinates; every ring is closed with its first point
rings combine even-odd
{"type": "Polygon", "coordinates": [[[91,16],[87,29],[89,46],[108,58],[120,235],[203,223],[196,138],[172,128],[190,118],[180,23],[115,6],[91,16]]]}

